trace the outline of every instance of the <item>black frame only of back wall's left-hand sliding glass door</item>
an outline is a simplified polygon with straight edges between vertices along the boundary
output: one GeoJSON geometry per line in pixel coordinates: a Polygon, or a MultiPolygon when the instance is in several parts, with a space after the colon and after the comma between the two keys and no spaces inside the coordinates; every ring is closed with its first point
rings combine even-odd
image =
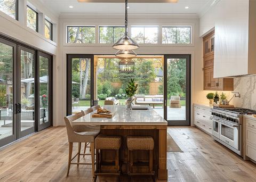
{"type": "Polygon", "coordinates": [[[67,115],[72,114],[72,59],[91,59],[91,107],[94,103],[94,54],[67,54],[67,115]]]}

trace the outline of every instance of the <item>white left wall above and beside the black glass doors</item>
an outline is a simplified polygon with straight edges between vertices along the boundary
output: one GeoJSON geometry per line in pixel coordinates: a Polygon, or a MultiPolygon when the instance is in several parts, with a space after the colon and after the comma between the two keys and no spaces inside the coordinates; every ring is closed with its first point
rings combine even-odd
{"type": "MultiPolygon", "coordinates": [[[[58,60],[58,37],[57,37],[57,31],[58,31],[58,15],[53,14],[47,8],[39,1],[36,0],[30,0],[30,4],[33,4],[33,6],[36,7],[36,11],[38,13],[43,14],[43,16],[47,16],[53,23],[53,33],[55,36],[54,41],[48,40],[44,37],[44,34],[35,32],[28,28],[26,26],[26,5],[27,1],[25,0],[19,0],[19,6],[23,7],[23,9],[19,9],[19,21],[14,20],[7,14],[3,13],[0,11],[0,34],[4,35],[6,37],[9,37],[14,40],[18,40],[19,42],[25,43],[31,47],[37,48],[41,51],[50,53],[53,55],[53,69],[56,69],[56,63],[58,60]]],[[[19,7],[19,8],[21,8],[19,7]]],[[[55,71],[54,71],[55,73],[55,71]]],[[[55,82],[56,82],[56,76],[53,75],[53,97],[54,97],[54,102],[55,102],[55,82]]],[[[55,111],[55,104],[53,107],[53,124],[55,125],[56,121],[56,111],[55,111]]]]}

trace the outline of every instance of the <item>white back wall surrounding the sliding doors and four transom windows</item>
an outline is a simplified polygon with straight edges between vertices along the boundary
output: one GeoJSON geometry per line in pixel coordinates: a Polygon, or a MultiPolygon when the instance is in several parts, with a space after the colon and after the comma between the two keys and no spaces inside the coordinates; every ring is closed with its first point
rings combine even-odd
{"type": "MultiPolygon", "coordinates": [[[[115,54],[115,49],[111,45],[95,44],[95,45],[68,45],[66,44],[67,25],[84,25],[84,26],[123,26],[124,15],[119,14],[63,14],[59,19],[59,53],[57,72],[57,88],[58,92],[58,117],[57,125],[65,125],[63,117],[66,115],[66,55],[67,54],[115,54]]],[[[193,15],[168,15],[168,14],[129,14],[129,26],[145,25],[145,26],[175,26],[190,25],[193,30],[192,44],[189,46],[177,45],[140,45],[136,50],[137,54],[191,54],[191,103],[194,103],[195,90],[203,88],[201,78],[203,62],[202,62],[202,39],[199,38],[199,19],[193,15]],[[199,75],[195,74],[199,72],[199,75]],[[194,81],[196,80],[196,81],[194,81]],[[198,81],[200,80],[200,81],[198,81]]],[[[159,28],[161,31],[161,28],[159,28]]],[[[203,75],[202,75],[203,76],[203,75]]]]}

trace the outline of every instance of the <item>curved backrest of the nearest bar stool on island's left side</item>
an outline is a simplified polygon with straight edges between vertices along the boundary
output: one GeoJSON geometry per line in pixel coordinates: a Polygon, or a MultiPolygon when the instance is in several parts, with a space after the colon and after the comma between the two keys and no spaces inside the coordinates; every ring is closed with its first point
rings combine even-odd
{"type": "Polygon", "coordinates": [[[72,114],[72,115],[68,115],[67,117],[64,117],[69,142],[72,142],[74,140],[74,138],[76,137],[76,134],[74,133],[74,129],[72,128],[72,122],[77,120],[78,118],[81,118],[81,117],[83,117],[82,112],[72,114]]]}

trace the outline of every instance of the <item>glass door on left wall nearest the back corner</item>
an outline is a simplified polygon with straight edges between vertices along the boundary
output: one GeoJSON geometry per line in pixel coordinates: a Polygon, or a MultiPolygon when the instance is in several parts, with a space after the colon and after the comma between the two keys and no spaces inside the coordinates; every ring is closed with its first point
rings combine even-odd
{"type": "Polygon", "coordinates": [[[51,56],[39,52],[39,118],[38,130],[51,126],[51,56]]]}

